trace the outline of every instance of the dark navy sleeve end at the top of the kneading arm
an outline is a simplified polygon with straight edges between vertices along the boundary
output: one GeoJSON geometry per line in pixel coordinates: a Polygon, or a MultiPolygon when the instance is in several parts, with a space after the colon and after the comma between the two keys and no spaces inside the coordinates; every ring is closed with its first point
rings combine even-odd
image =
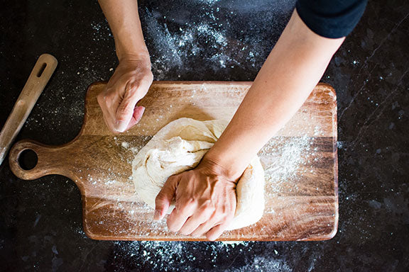
{"type": "Polygon", "coordinates": [[[320,36],[341,38],[355,28],[367,0],[298,0],[295,4],[304,23],[320,36]]]}

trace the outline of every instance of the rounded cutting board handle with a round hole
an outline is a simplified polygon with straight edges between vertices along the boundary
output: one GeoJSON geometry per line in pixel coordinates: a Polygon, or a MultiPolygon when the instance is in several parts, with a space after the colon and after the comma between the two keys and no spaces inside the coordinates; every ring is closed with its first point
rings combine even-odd
{"type": "MultiPolygon", "coordinates": [[[[10,169],[19,179],[33,180],[50,174],[60,174],[58,168],[58,147],[40,144],[33,140],[21,140],[13,145],[9,154],[10,169]],[[21,154],[32,150],[37,155],[37,164],[33,169],[23,169],[20,164],[21,154]],[[57,163],[55,163],[57,162],[57,163]]],[[[66,162],[65,162],[66,163],[66,162]]]]}

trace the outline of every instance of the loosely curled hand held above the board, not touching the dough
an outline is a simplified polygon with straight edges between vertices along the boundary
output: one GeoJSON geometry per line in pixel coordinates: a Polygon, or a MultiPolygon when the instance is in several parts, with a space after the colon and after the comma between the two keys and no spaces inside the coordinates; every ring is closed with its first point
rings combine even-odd
{"type": "Polygon", "coordinates": [[[141,120],[143,106],[136,106],[153,81],[149,56],[122,57],[107,87],[98,95],[104,120],[112,132],[125,132],[141,120]]]}

